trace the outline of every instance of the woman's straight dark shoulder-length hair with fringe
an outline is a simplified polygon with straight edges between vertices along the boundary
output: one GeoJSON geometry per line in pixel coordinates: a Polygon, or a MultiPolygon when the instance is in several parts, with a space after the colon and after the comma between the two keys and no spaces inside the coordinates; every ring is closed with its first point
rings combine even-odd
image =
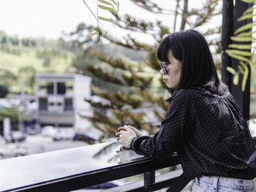
{"type": "Polygon", "coordinates": [[[169,62],[167,55],[181,61],[181,77],[176,89],[205,88],[211,93],[223,95],[227,86],[219,82],[211,51],[206,39],[195,30],[179,31],[165,37],[157,50],[159,61],[169,62]]]}

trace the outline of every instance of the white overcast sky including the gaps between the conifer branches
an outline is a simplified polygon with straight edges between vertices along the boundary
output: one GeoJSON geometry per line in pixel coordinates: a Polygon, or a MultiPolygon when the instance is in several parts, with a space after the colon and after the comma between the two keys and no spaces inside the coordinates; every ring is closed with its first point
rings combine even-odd
{"type": "MultiPolygon", "coordinates": [[[[200,6],[204,0],[193,0],[189,7],[200,6]]],[[[174,9],[174,0],[157,1],[166,9],[174,9]]],[[[191,1],[189,1],[191,2],[191,1]]],[[[89,7],[96,12],[97,1],[86,0],[89,7]]],[[[168,26],[173,26],[172,15],[152,15],[143,12],[138,7],[132,6],[129,0],[119,0],[119,13],[125,12],[136,15],[145,20],[162,20],[168,26]]],[[[100,16],[107,16],[108,13],[99,10],[100,16]]],[[[57,39],[61,36],[61,31],[74,31],[78,23],[88,23],[94,26],[97,21],[94,19],[83,0],[0,0],[0,30],[8,35],[18,35],[18,37],[45,37],[57,39]]],[[[116,37],[124,37],[125,34],[114,28],[108,22],[102,22],[103,28],[108,28],[110,33],[116,37]]],[[[145,41],[148,37],[140,38],[145,41]]]]}

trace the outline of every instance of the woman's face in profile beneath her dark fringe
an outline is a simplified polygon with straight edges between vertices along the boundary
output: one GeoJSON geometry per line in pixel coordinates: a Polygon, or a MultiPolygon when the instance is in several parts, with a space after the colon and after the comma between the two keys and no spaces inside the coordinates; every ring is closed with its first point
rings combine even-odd
{"type": "Polygon", "coordinates": [[[181,77],[181,61],[178,61],[176,58],[174,58],[171,51],[167,55],[167,58],[169,64],[162,62],[165,64],[167,74],[165,74],[163,69],[160,70],[160,73],[162,74],[162,80],[166,83],[168,88],[177,88],[179,78],[181,77]]]}

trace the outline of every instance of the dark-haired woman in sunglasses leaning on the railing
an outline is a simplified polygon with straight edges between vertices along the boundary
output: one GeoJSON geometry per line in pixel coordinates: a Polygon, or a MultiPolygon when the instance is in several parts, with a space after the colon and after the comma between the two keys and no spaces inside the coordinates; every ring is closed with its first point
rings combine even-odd
{"type": "Polygon", "coordinates": [[[172,93],[153,137],[118,128],[123,147],[156,161],[177,151],[192,191],[256,191],[256,152],[246,120],[219,82],[206,39],[194,30],[165,37],[157,50],[162,79],[172,93]]]}

